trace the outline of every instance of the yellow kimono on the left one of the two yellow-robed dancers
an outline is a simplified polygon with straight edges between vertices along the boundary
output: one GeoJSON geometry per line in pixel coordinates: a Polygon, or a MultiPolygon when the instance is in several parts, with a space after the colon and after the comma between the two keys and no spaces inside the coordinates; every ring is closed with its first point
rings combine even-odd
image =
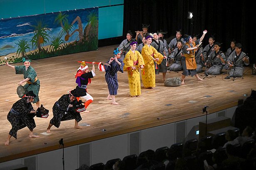
{"type": "Polygon", "coordinates": [[[131,96],[141,95],[139,68],[142,65],[144,65],[144,61],[139,51],[133,53],[132,50],[129,50],[124,58],[124,71],[128,72],[131,96]],[[135,66],[136,70],[132,70],[132,66],[135,66]]]}

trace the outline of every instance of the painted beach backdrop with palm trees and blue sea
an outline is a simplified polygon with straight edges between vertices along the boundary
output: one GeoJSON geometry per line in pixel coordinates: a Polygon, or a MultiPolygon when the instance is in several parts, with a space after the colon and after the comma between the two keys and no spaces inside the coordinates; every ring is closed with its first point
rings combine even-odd
{"type": "Polygon", "coordinates": [[[0,65],[98,49],[98,8],[0,19],[0,65]]]}

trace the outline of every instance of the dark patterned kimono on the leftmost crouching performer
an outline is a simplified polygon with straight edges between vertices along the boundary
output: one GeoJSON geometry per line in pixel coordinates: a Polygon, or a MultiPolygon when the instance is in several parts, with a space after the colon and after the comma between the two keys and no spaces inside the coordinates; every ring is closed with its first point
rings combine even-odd
{"type": "Polygon", "coordinates": [[[26,98],[22,98],[12,105],[12,109],[7,115],[7,120],[12,124],[9,134],[17,139],[17,131],[26,126],[30,131],[35,128],[34,110],[32,104],[27,102],[26,98]]]}

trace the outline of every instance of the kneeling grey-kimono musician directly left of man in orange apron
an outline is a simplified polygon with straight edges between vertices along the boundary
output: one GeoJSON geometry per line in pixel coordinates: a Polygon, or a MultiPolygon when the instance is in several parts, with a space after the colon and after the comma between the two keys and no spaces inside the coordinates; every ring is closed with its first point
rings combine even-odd
{"type": "Polygon", "coordinates": [[[171,65],[169,67],[169,70],[171,71],[181,71],[182,66],[181,66],[181,54],[182,54],[182,41],[178,40],[177,41],[177,48],[174,49],[174,51],[170,55],[170,61],[171,65]]]}

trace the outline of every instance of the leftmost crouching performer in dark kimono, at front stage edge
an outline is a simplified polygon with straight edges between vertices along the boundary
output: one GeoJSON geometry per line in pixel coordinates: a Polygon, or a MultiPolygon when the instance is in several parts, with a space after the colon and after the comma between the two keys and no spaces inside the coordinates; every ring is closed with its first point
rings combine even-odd
{"type": "Polygon", "coordinates": [[[33,109],[31,102],[33,102],[35,97],[36,95],[33,91],[29,91],[22,99],[12,105],[12,109],[7,114],[7,120],[12,124],[12,129],[5,142],[6,146],[10,144],[10,138],[13,136],[17,139],[17,131],[26,126],[30,130],[30,138],[39,138],[39,136],[33,134],[33,129],[36,127],[33,117],[37,111],[33,109]]]}

